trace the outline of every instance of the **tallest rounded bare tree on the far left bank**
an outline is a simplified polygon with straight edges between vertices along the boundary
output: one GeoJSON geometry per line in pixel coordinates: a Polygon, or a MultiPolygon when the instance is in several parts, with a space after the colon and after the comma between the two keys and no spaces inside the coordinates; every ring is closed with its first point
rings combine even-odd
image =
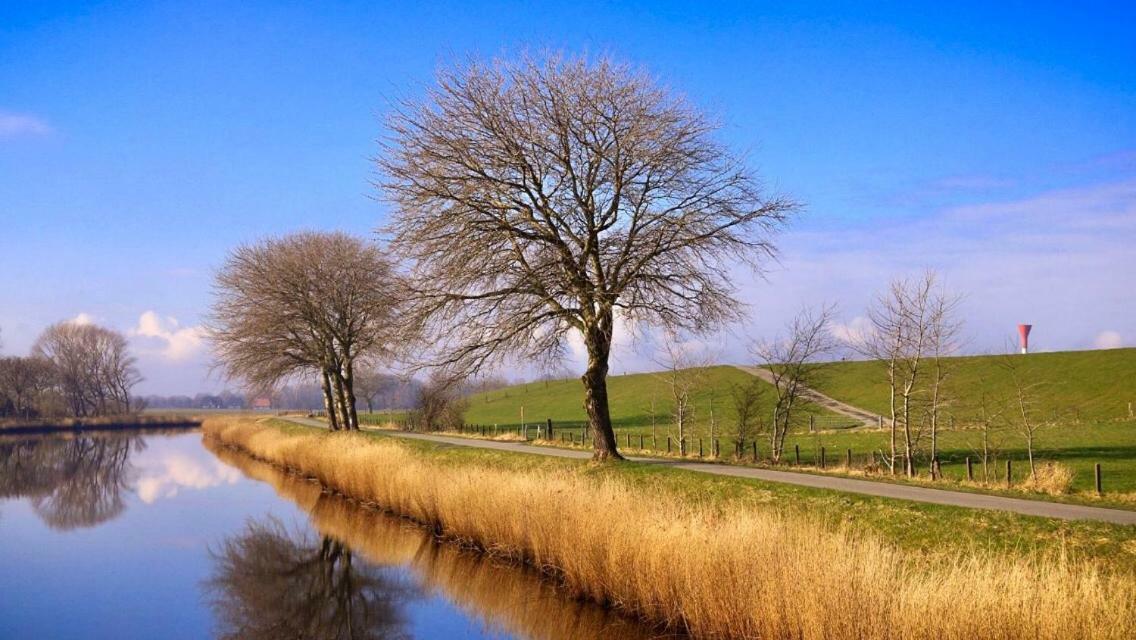
{"type": "Polygon", "coordinates": [[[93,324],[61,322],[45,329],[32,347],[51,363],[72,415],[128,413],[131,389],[142,381],[126,338],[93,324]]]}

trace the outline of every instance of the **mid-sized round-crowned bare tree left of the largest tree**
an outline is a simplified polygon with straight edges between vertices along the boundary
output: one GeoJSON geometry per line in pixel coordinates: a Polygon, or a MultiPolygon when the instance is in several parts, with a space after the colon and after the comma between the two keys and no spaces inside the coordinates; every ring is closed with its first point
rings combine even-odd
{"type": "Polygon", "coordinates": [[[228,379],[274,388],[316,376],[332,430],[358,429],[356,366],[390,358],[401,280],[379,248],[345,233],[294,233],[235,249],[208,321],[228,379]]]}

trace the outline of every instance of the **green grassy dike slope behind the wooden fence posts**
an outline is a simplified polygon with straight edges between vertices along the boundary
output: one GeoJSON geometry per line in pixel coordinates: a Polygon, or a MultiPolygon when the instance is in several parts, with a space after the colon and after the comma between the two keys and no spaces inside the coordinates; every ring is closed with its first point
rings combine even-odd
{"type": "MultiPolygon", "coordinates": [[[[1074,473],[1070,487],[1074,496],[1067,499],[1128,508],[1136,506],[1136,421],[1128,416],[1129,399],[1136,404],[1136,349],[1030,354],[1013,358],[1022,379],[1036,384],[1033,389],[1034,412],[1044,425],[1036,433],[1035,458],[1061,463],[1074,473]],[[1102,467],[1103,500],[1093,494],[1096,464],[1102,467]]],[[[987,397],[1000,398],[1004,402],[1012,388],[1000,357],[950,358],[949,371],[950,392],[955,398],[949,413],[955,416],[955,427],[944,429],[939,434],[943,473],[947,479],[964,479],[966,458],[970,457],[976,480],[982,481],[982,433],[972,429],[972,399],[985,388],[987,397]]],[[[747,374],[734,367],[710,367],[703,372],[690,429],[692,451],[698,450],[695,439],[709,438],[711,398],[722,452],[728,455],[732,451],[728,439],[735,414],[730,385],[747,380],[747,374]]],[[[762,415],[771,413],[772,404],[772,393],[768,385],[765,387],[767,393],[762,399],[762,415]]],[[[854,406],[886,413],[887,387],[878,363],[833,363],[819,388],[854,406]]],[[[613,376],[609,389],[620,444],[625,444],[627,434],[632,435],[635,447],[640,434],[646,434],[646,442],[650,442],[653,399],[654,431],[659,437],[659,447],[663,449],[666,437],[675,433],[670,417],[671,398],[666,382],[653,374],[613,376]]],[[[574,379],[510,387],[471,397],[466,419],[473,424],[515,429],[520,424],[520,408],[524,407],[527,423],[543,423],[551,417],[563,433],[567,427],[582,425],[585,421],[582,396],[580,383],[574,379]]],[[[836,464],[843,462],[851,449],[854,467],[863,466],[872,452],[887,449],[886,432],[842,429],[849,423],[821,407],[807,406],[797,425],[796,432],[790,435],[788,449],[792,451],[794,446],[799,446],[804,464],[812,464],[821,447],[826,449],[828,460],[836,464]],[[809,415],[817,416],[817,432],[809,432],[807,427],[809,415]]],[[[575,433],[578,438],[579,430],[575,433]]],[[[992,430],[991,443],[993,457],[987,469],[991,487],[986,490],[1004,488],[1006,459],[1012,460],[1013,484],[1020,485],[1028,475],[1025,437],[1012,423],[1003,422],[992,430]]],[[[759,454],[763,444],[759,440],[759,454]]],[[[926,435],[921,444],[927,446],[926,435]]],[[[707,455],[709,447],[707,440],[707,455]]]]}

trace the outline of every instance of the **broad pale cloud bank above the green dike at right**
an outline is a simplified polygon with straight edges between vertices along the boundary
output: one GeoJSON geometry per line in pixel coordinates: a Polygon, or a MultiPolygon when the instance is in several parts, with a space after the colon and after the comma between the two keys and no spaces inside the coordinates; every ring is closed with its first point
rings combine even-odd
{"type": "MultiPolygon", "coordinates": [[[[817,221],[821,222],[821,221],[817,221]]],[[[937,269],[963,294],[967,351],[1001,350],[1016,325],[1034,324],[1038,350],[1085,349],[1101,326],[1136,315],[1136,178],[1041,192],[1019,200],[949,207],[911,218],[787,234],[782,264],[738,281],[759,334],[802,304],[836,302],[862,315],[888,280],[937,269]],[[760,315],[757,315],[760,313],[760,315]]],[[[853,329],[857,321],[849,321],[853,329]]]]}

